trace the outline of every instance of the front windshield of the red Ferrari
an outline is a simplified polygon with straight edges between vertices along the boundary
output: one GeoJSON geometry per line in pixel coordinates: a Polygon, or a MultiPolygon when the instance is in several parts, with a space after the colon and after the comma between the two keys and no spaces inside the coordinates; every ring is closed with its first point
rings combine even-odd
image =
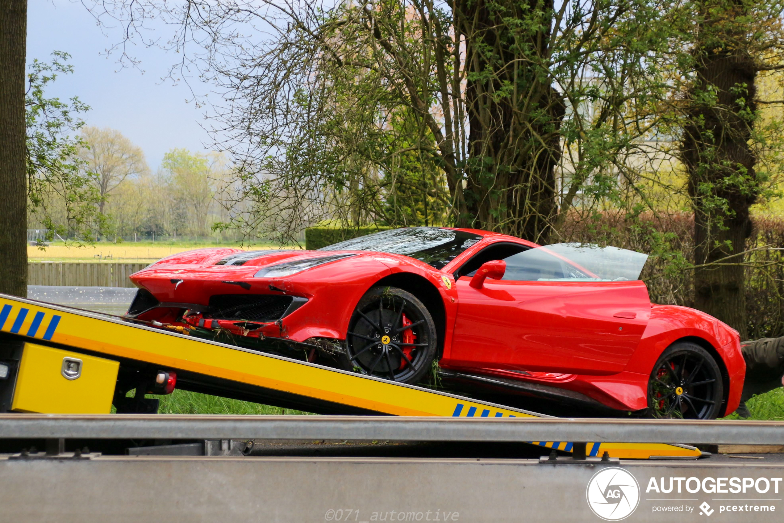
{"type": "Polygon", "coordinates": [[[440,227],[408,227],[360,236],[318,250],[389,252],[410,256],[442,269],[481,239],[479,234],[450,231],[440,227]]]}

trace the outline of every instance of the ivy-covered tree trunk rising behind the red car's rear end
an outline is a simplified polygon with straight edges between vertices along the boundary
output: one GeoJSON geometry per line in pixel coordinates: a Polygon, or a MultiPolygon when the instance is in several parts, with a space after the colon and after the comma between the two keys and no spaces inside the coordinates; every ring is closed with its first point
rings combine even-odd
{"type": "Polygon", "coordinates": [[[751,233],[750,205],[757,199],[749,140],[756,111],[753,57],[743,41],[744,9],[737,2],[709,2],[695,45],[696,75],[688,102],[681,158],[695,209],[695,307],[719,318],[746,339],[743,256],[751,233]],[[730,45],[730,43],[732,45],[730,45]],[[723,260],[733,256],[728,260],[723,260]],[[735,263],[735,264],[733,264],[735,263]]]}

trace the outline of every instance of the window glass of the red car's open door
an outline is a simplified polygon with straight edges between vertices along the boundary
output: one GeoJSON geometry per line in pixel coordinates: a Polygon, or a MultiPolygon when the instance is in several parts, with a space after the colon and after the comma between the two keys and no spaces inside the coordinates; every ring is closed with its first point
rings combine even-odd
{"type": "Polygon", "coordinates": [[[506,258],[505,280],[626,281],[637,280],[648,255],[618,247],[556,243],[506,258]],[[570,263],[571,262],[571,263],[570,263]]]}

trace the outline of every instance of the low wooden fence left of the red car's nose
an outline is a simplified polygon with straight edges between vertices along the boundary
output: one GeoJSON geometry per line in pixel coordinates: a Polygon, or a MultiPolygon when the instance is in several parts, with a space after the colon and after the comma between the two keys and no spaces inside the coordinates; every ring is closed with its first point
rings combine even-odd
{"type": "Polygon", "coordinates": [[[28,262],[27,285],[133,287],[129,275],[148,263],[28,262]]]}

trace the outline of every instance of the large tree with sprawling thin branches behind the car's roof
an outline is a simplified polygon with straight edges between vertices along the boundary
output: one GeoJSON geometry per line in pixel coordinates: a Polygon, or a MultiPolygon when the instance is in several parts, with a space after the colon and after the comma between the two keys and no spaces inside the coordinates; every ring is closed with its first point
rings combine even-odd
{"type": "Polygon", "coordinates": [[[222,88],[212,116],[238,165],[233,225],[281,240],[321,220],[408,223],[395,210],[406,193],[406,209],[423,194],[441,202],[441,223],[548,242],[573,209],[637,194],[640,162],[619,158],[653,132],[644,102],[665,97],[656,57],[672,11],[659,0],[94,6],[122,20],[126,40],[145,38],[151,17],[180,24],[179,67],[222,88]],[[410,183],[412,169],[426,183],[410,183]]]}

